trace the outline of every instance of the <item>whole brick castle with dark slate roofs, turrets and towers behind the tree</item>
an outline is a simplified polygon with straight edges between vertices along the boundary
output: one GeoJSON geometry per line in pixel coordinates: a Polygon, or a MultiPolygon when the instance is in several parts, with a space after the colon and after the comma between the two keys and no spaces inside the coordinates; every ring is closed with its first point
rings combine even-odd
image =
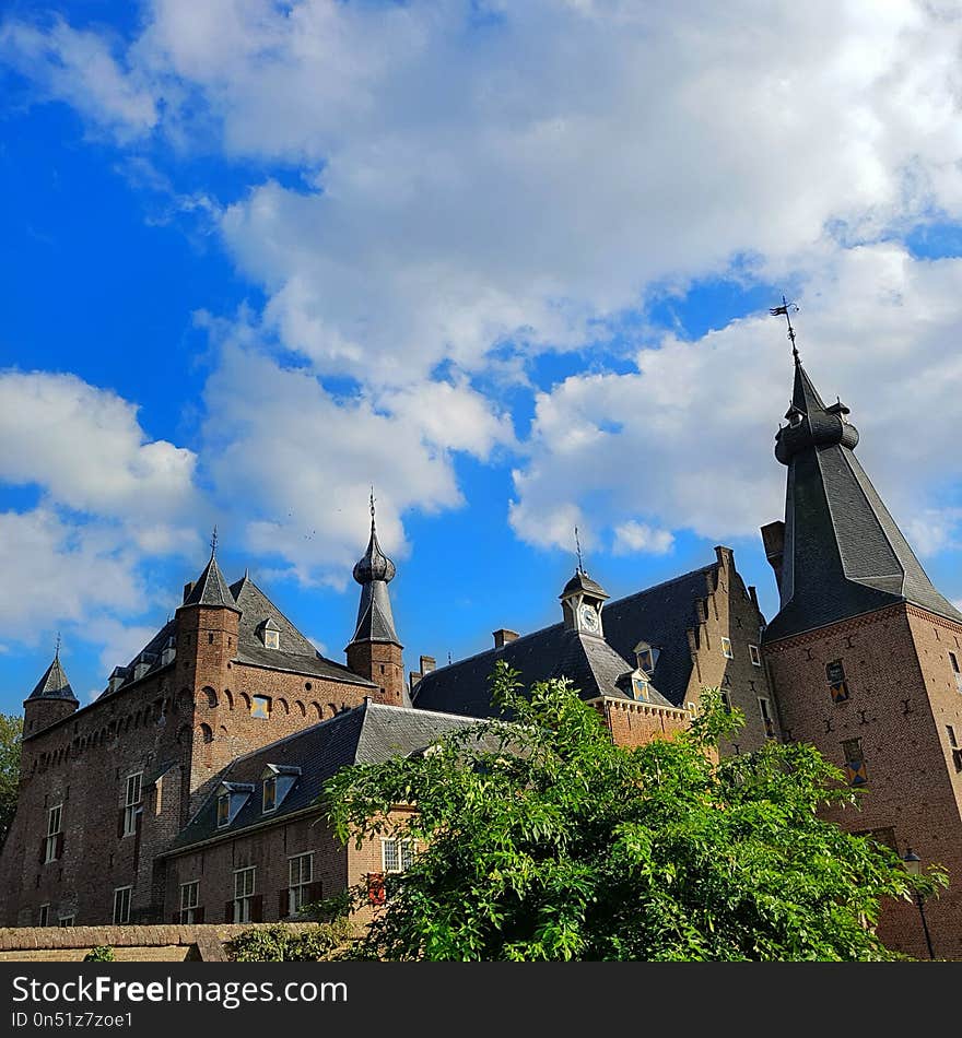
{"type": "MultiPolygon", "coordinates": [[[[619,744],[685,727],[709,686],[747,718],[723,752],[813,743],[865,789],[840,824],[948,869],[925,918],[934,954],[962,958],[962,614],[858,463],[848,409],[825,406],[797,354],[794,377],[775,446],[785,519],[762,530],[781,594],[767,625],[728,547],[618,601],[579,563],[555,625],[496,630],[491,649],[443,668],[422,656],[406,676],[372,504],[345,664],[248,576],[228,585],[213,550],[93,703],[80,706],[55,656],[24,704],[0,923],[275,920],[365,882],[378,904],[412,848],[340,845],[315,802],[324,781],[491,716],[488,679],[505,660],[528,683],[570,677],[619,744]]],[[[885,906],[880,929],[928,954],[916,906],[885,906]]]]}

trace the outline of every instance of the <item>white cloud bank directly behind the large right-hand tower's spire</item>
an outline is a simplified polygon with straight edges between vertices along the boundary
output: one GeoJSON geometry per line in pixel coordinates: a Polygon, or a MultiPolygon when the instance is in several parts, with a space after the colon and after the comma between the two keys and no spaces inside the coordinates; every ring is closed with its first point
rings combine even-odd
{"type": "MultiPolygon", "coordinates": [[[[949,347],[960,276],[962,260],[914,260],[898,245],[840,249],[797,318],[807,370],[826,402],[837,391],[852,409],[857,455],[922,554],[952,546],[962,516],[931,489],[962,477],[962,358],[949,347]]],[[[565,526],[591,498],[617,546],[632,516],[715,540],[755,536],[784,510],[772,448],[791,377],[784,328],[766,315],[695,342],[666,337],[629,374],[566,379],[538,397],[515,473],[516,531],[566,545],[565,526]]]]}

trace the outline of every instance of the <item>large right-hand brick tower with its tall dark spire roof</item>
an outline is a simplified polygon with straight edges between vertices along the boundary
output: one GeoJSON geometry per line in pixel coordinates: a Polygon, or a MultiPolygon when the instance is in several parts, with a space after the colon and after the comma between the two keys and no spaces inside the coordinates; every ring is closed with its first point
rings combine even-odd
{"type": "MultiPolygon", "coordinates": [[[[783,311],[784,312],[784,311],[783,311]]],[[[786,739],[813,743],[864,790],[833,821],[941,863],[925,903],[937,957],[962,957],[962,614],[932,586],[855,457],[841,401],[795,357],[775,438],[785,520],[762,530],[781,609],[763,636],[786,739]]],[[[928,957],[918,908],[884,906],[880,935],[928,957]]]]}

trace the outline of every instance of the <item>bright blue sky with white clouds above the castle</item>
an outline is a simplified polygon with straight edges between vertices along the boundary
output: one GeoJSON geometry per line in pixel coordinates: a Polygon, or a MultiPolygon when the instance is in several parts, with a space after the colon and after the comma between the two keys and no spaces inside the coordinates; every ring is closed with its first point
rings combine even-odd
{"type": "Polygon", "coordinates": [[[7,0],[0,710],[81,703],[219,531],[406,661],[759,527],[798,345],[962,600],[962,13],[927,0],[7,0]]]}

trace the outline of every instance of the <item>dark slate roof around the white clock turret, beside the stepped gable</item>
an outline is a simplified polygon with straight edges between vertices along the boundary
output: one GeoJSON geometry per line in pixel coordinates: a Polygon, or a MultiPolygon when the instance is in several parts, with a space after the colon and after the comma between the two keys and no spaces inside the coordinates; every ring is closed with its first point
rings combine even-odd
{"type": "Polygon", "coordinates": [[[695,601],[707,594],[708,581],[714,580],[716,571],[717,564],[713,564],[609,602],[601,612],[605,649],[597,645],[598,638],[578,636],[566,632],[562,623],[553,624],[502,648],[488,649],[425,674],[414,687],[414,706],[477,717],[494,716],[489,679],[497,660],[505,660],[519,671],[526,684],[558,676],[566,665],[576,671],[566,676],[585,698],[602,691],[606,695],[623,695],[618,679],[634,669],[634,649],[640,641],[647,641],[659,650],[655,672],[650,675],[657,694],[670,705],[681,706],[692,672],[688,629],[697,626],[695,601]],[[575,640],[579,645],[574,645],[575,640]],[[589,642],[595,645],[585,649],[589,642]],[[587,659],[579,659],[580,653],[587,659]],[[621,668],[618,676],[617,667],[621,668]],[[615,691],[609,692],[612,686],[615,691]]]}

